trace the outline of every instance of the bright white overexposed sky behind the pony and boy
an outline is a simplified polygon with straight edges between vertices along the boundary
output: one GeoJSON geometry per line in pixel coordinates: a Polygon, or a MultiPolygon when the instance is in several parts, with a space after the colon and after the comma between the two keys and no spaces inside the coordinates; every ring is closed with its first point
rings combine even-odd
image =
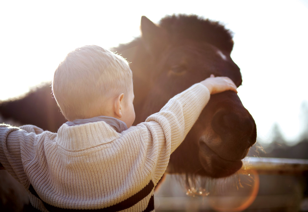
{"type": "Polygon", "coordinates": [[[289,140],[308,102],[308,3],[289,1],[1,1],[0,100],[51,81],[68,52],[104,48],[140,35],[140,19],[196,14],[234,32],[232,58],[241,68],[238,95],[253,115],[260,142],[277,122],[289,140]]]}

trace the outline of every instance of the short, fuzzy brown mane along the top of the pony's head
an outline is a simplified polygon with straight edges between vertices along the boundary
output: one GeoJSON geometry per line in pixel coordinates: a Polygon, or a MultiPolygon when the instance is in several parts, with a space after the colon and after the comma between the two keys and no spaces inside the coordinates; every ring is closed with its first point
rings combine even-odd
{"type": "Polygon", "coordinates": [[[231,52],[233,49],[232,32],[217,21],[197,15],[172,15],[161,19],[159,25],[173,36],[172,40],[205,41],[221,50],[231,52]]]}

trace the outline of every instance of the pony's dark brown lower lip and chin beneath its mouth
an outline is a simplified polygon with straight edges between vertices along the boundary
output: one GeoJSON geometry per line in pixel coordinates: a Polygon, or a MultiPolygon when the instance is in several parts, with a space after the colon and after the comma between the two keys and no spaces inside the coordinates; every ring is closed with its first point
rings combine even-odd
{"type": "Polygon", "coordinates": [[[204,142],[200,142],[199,160],[206,175],[213,178],[228,177],[236,173],[243,165],[241,160],[223,159],[204,142]]]}

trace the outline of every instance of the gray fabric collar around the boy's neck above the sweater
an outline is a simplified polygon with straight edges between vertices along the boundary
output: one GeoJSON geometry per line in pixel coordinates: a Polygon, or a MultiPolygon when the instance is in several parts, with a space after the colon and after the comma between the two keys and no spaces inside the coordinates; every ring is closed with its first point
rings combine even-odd
{"type": "Polygon", "coordinates": [[[71,127],[71,126],[76,126],[76,125],[80,125],[80,124],[100,122],[100,121],[106,122],[111,127],[113,127],[115,129],[115,131],[117,131],[117,132],[122,132],[122,131],[128,129],[125,122],[123,122],[123,121],[121,121],[117,118],[110,117],[110,116],[96,116],[96,117],[93,117],[93,118],[76,119],[72,122],[68,121],[68,122],[66,122],[66,124],[71,127]]]}

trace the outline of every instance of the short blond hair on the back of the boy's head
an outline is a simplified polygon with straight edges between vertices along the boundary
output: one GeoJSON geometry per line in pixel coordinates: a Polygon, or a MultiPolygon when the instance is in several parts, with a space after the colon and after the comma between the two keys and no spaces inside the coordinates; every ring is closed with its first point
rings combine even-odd
{"type": "Polygon", "coordinates": [[[84,46],[68,53],[55,70],[54,97],[63,115],[72,121],[91,118],[105,98],[128,93],[132,71],[120,55],[99,46],[84,46]]]}

